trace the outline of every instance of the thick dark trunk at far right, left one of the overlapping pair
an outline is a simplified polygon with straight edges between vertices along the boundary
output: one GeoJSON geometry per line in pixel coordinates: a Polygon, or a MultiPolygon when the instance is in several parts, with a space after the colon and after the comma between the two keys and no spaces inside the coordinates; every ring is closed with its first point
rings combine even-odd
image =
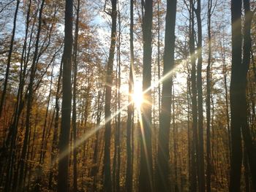
{"type": "Polygon", "coordinates": [[[241,0],[231,0],[232,71],[230,81],[231,165],[230,192],[240,191],[241,181],[241,0]]]}

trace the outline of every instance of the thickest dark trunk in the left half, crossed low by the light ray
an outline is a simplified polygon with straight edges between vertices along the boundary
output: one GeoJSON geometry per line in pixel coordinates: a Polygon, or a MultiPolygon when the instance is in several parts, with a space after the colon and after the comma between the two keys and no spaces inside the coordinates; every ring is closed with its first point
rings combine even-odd
{"type": "Polygon", "coordinates": [[[68,166],[69,166],[69,132],[71,116],[71,69],[72,69],[72,24],[73,2],[66,0],[65,29],[64,29],[64,53],[62,76],[62,105],[61,105],[61,131],[59,135],[59,172],[57,191],[69,191],[68,166]]]}

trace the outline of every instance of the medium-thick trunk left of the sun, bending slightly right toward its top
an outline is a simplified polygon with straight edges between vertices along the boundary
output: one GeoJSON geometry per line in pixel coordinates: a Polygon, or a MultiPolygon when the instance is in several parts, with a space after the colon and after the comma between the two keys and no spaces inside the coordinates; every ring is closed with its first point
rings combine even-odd
{"type": "Polygon", "coordinates": [[[113,83],[113,60],[115,55],[115,47],[116,47],[116,4],[117,0],[112,0],[112,10],[111,10],[111,42],[110,42],[110,51],[108,57],[108,65],[107,65],[107,77],[106,77],[106,93],[105,93],[105,145],[104,145],[104,190],[106,192],[112,191],[112,183],[111,183],[111,169],[110,169],[110,139],[111,139],[111,91],[112,91],[112,83],[113,83]]]}

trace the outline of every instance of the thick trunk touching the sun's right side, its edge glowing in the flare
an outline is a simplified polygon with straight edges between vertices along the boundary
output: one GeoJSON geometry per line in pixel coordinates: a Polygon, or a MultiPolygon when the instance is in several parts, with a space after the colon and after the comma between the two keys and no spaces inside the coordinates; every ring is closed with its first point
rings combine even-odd
{"type": "Polygon", "coordinates": [[[139,191],[153,191],[153,166],[151,146],[151,53],[153,1],[143,3],[143,99],[141,106],[142,126],[140,127],[140,176],[139,191]]]}

